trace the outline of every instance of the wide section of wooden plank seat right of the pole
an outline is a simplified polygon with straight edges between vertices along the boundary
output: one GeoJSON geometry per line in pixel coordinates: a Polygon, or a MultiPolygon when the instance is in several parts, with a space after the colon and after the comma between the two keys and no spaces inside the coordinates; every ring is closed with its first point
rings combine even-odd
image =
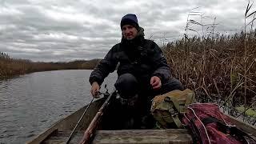
{"type": "Polygon", "coordinates": [[[192,143],[192,138],[185,129],[98,130],[92,143],[192,143]]]}

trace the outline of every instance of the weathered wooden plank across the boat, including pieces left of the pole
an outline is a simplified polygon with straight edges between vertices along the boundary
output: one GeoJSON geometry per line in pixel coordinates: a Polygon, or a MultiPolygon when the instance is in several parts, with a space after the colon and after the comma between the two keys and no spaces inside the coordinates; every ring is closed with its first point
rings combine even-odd
{"type": "MultiPolygon", "coordinates": [[[[71,131],[58,131],[48,138],[44,144],[60,144],[66,142],[71,131]]],[[[79,143],[84,132],[78,131],[70,143],[79,143]]],[[[109,143],[192,143],[192,138],[185,129],[169,130],[98,130],[94,144],[109,143]]]]}

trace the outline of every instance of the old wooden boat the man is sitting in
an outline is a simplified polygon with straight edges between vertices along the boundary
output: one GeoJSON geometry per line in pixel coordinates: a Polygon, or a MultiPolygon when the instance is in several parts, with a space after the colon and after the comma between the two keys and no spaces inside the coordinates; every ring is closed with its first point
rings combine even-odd
{"type": "MultiPolygon", "coordinates": [[[[62,118],[48,130],[42,132],[27,144],[60,144],[66,143],[74,127],[81,118],[78,129],[74,132],[69,143],[192,143],[192,136],[186,129],[166,129],[166,130],[117,130],[114,127],[111,114],[114,108],[114,98],[116,91],[105,94],[103,98],[98,98],[91,102],[89,106],[84,106],[73,114],[62,118]],[[88,110],[86,110],[88,108],[88,110]],[[86,110],[86,113],[85,113],[86,110]],[[85,114],[83,117],[82,115],[85,114]]],[[[117,115],[118,116],[118,115],[117,115]]],[[[229,115],[228,115],[229,116],[229,115]]],[[[256,127],[246,124],[234,117],[230,117],[231,122],[256,139],[256,127]]]]}

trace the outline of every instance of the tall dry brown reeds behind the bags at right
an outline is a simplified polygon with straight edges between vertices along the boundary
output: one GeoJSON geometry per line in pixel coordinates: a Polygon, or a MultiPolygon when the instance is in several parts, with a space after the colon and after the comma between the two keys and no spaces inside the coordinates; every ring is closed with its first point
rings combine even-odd
{"type": "Polygon", "coordinates": [[[255,104],[256,32],[182,38],[163,47],[174,77],[198,95],[255,104]]]}

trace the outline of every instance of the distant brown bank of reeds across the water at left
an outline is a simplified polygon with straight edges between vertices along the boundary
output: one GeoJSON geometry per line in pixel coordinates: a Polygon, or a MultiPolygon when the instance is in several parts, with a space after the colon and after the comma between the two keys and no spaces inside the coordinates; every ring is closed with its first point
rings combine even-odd
{"type": "Polygon", "coordinates": [[[91,70],[99,61],[100,59],[73,62],[32,62],[26,59],[10,58],[8,54],[0,53],[0,79],[46,70],[91,70]]]}

